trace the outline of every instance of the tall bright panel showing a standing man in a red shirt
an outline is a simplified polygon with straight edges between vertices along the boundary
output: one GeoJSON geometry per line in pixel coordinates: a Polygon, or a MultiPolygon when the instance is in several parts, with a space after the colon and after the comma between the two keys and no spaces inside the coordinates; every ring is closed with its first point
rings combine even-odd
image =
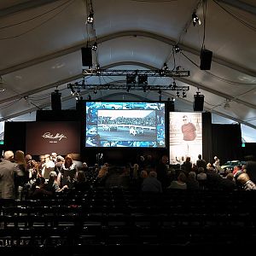
{"type": "Polygon", "coordinates": [[[189,156],[191,162],[202,154],[201,113],[170,112],[170,163],[182,164],[189,156]]]}

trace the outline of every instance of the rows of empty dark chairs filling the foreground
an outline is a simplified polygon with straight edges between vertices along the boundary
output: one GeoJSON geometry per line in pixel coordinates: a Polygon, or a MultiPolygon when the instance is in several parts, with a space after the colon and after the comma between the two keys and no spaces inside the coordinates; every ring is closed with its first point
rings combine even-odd
{"type": "Polygon", "coordinates": [[[254,191],[241,190],[142,194],[98,188],[51,200],[2,200],[0,250],[26,255],[234,250],[256,239],[255,199],[254,191]]]}

